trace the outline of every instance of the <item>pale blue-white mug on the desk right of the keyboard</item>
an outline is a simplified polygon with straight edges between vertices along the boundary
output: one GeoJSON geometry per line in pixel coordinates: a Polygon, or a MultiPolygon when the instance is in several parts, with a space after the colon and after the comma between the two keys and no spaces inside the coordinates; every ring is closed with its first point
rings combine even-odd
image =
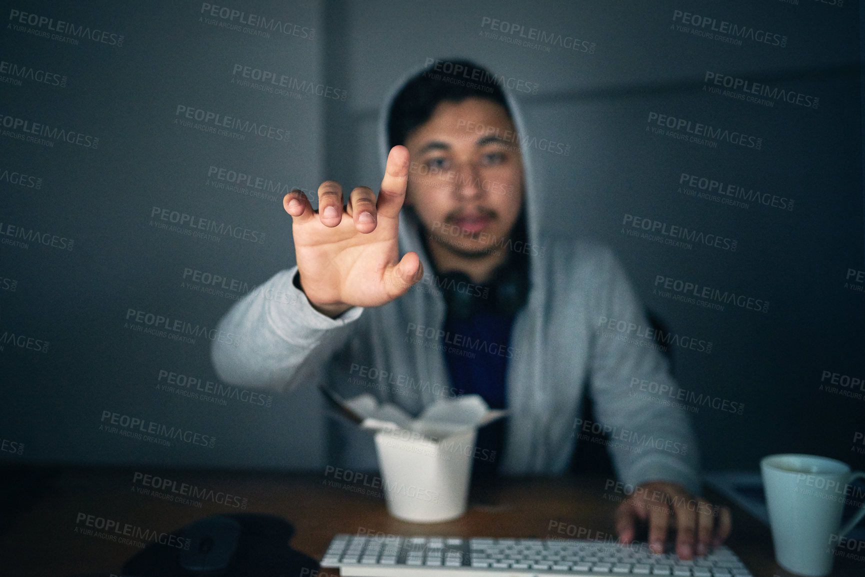
{"type": "Polygon", "coordinates": [[[787,571],[822,577],[832,570],[834,548],[865,516],[865,506],[841,526],[855,478],[848,465],[814,455],[769,455],[760,460],[775,560],[787,571]]]}

